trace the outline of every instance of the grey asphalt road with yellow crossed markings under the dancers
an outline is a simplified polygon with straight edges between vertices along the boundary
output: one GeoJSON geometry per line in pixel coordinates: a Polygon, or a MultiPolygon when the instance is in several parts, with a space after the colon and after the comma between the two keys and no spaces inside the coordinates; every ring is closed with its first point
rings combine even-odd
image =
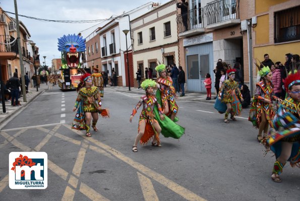
{"type": "Polygon", "coordinates": [[[112,89],[102,100],[111,118],[92,137],[71,129],[75,91],[46,90],[16,114],[0,132],[0,200],[299,200],[299,169],[287,164],[282,182],[271,180],[275,158],[263,156],[249,110],[225,124],[212,104],[179,98],[185,135],[133,153],[139,94],[112,89]],[[9,188],[9,153],[24,151],[47,153],[46,189],[9,188]]]}

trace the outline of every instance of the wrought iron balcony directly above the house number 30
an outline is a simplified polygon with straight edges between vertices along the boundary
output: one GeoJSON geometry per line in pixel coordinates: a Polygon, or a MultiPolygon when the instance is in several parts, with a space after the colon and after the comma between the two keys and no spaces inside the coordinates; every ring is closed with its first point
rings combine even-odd
{"type": "Polygon", "coordinates": [[[207,29],[220,29],[241,23],[236,0],[215,0],[204,7],[207,29]]]}

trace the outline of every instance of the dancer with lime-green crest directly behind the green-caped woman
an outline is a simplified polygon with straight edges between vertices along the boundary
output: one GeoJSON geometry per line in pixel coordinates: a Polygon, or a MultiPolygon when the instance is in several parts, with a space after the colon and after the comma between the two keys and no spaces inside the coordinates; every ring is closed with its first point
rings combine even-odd
{"type": "Polygon", "coordinates": [[[178,121],[175,116],[178,112],[178,106],[175,102],[176,91],[172,85],[172,78],[166,74],[166,66],[158,65],[155,70],[159,73],[159,78],[156,79],[158,88],[156,97],[161,98],[163,113],[173,121],[178,121]]]}

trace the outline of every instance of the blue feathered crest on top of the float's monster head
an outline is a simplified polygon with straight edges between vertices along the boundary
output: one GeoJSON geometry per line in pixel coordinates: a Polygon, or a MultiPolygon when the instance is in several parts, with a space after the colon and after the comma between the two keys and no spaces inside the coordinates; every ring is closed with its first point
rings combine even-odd
{"type": "Polygon", "coordinates": [[[66,45],[78,45],[77,51],[78,52],[84,52],[85,51],[85,39],[82,38],[82,36],[76,35],[75,33],[73,35],[64,35],[61,38],[58,39],[58,51],[64,52],[66,51],[66,45]]]}

